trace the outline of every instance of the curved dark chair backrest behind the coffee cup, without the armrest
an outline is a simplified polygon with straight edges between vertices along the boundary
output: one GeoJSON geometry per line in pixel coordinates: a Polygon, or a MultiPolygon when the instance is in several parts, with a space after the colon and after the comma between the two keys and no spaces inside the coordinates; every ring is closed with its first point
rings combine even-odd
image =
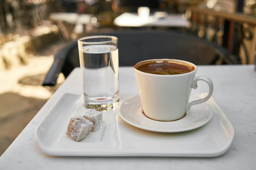
{"type": "Polygon", "coordinates": [[[190,35],[173,32],[116,32],[119,66],[133,66],[150,59],[179,59],[197,65],[214,64],[220,53],[229,55],[215,44],[190,35]]]}

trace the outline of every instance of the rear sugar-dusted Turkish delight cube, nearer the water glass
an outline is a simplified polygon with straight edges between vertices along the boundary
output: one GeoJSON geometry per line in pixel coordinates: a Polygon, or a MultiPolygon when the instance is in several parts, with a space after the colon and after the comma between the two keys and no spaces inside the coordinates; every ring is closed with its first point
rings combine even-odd
{"type": "Polygon", "coordinates": [[[96,131],[102,126],[102,112],[96,111],[94,109],[88,109],[84,112],[83,117],[93,122],[91,131],[96,131]]]}

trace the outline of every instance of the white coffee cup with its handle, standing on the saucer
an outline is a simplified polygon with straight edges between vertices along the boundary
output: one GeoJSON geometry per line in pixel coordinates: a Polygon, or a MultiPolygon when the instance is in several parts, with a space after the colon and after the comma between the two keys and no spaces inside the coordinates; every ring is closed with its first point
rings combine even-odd
{"type": "Polygon", "coordinates": [[[174,59],[146,60],[135,64],[134,72],[144,114],[153,120],[178,120],[191,106],[209,100],[213,94],[213,82],[205,76],[196,77],[196,71],[195,64],[174,59]],[[183,65],[193,71],[177,75],[157,75],[138,70],[141,65],[163,61],[183,65]],[[191,90],[197,88],[198,80],[203,80],[209,85],[209,94],[203,99],[188,103],[191,90]]]}

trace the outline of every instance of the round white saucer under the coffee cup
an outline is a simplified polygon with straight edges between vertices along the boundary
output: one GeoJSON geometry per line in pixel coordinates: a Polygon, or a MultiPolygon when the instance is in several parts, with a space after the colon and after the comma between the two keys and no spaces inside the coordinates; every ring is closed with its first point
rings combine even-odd
{"type": "MultiPolygon", "coordinates": [[[[198,100],[191,96],[191,101],[198,100]]],[[[211,120],[213,111],[207,103],[194,105],[186,115],[175,121],[157,121],[142,112],[140,96],[132,96],[119,106],[120,117],[132,126],[153,132],[184,132],[203,126],[211,120]]]]}

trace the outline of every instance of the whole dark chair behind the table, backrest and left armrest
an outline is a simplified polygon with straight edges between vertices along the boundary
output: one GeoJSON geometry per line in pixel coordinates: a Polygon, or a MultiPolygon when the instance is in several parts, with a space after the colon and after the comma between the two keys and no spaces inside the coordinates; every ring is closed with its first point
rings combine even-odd
{"type": "MultiPolygon", "coordinates": [[[[176,32],[112,32],[101,35],[118,37],[119,66],[134,66],[149,59],[179,59],[196,65],[239,64],[215,43],[176,32]]],[[[53,86],[60,72],[67,77],[79,67],[77,42],[60,50],[45,77],[44,86],[53,86]]]]}

